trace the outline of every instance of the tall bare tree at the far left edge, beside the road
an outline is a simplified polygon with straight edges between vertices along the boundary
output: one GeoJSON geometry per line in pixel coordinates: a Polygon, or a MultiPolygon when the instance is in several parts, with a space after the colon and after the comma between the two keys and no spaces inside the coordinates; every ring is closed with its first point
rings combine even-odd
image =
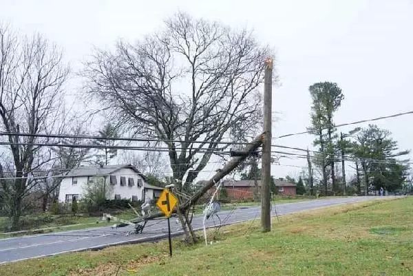
{"type": "MultiPolygon", "coordinates": [[[[30,190],[28,177],[32,170],[50,160],[34,165],[40,146],[49,138],[21,136],[54,130],[63,105],[62,85],[69,74],[63,65],[62,53],[40,34],[31,38],[14,34],[0,27],[0,122],[6,131],[6,143],[14,163],[14,180],[3,181],[10,198],[10,228],[17,229],[22,200],[30,190]],[[22,145],[24,144],[24,145],[22,145]]],[[[4,172],[0,166],[0,177],[4,172]]]]}

